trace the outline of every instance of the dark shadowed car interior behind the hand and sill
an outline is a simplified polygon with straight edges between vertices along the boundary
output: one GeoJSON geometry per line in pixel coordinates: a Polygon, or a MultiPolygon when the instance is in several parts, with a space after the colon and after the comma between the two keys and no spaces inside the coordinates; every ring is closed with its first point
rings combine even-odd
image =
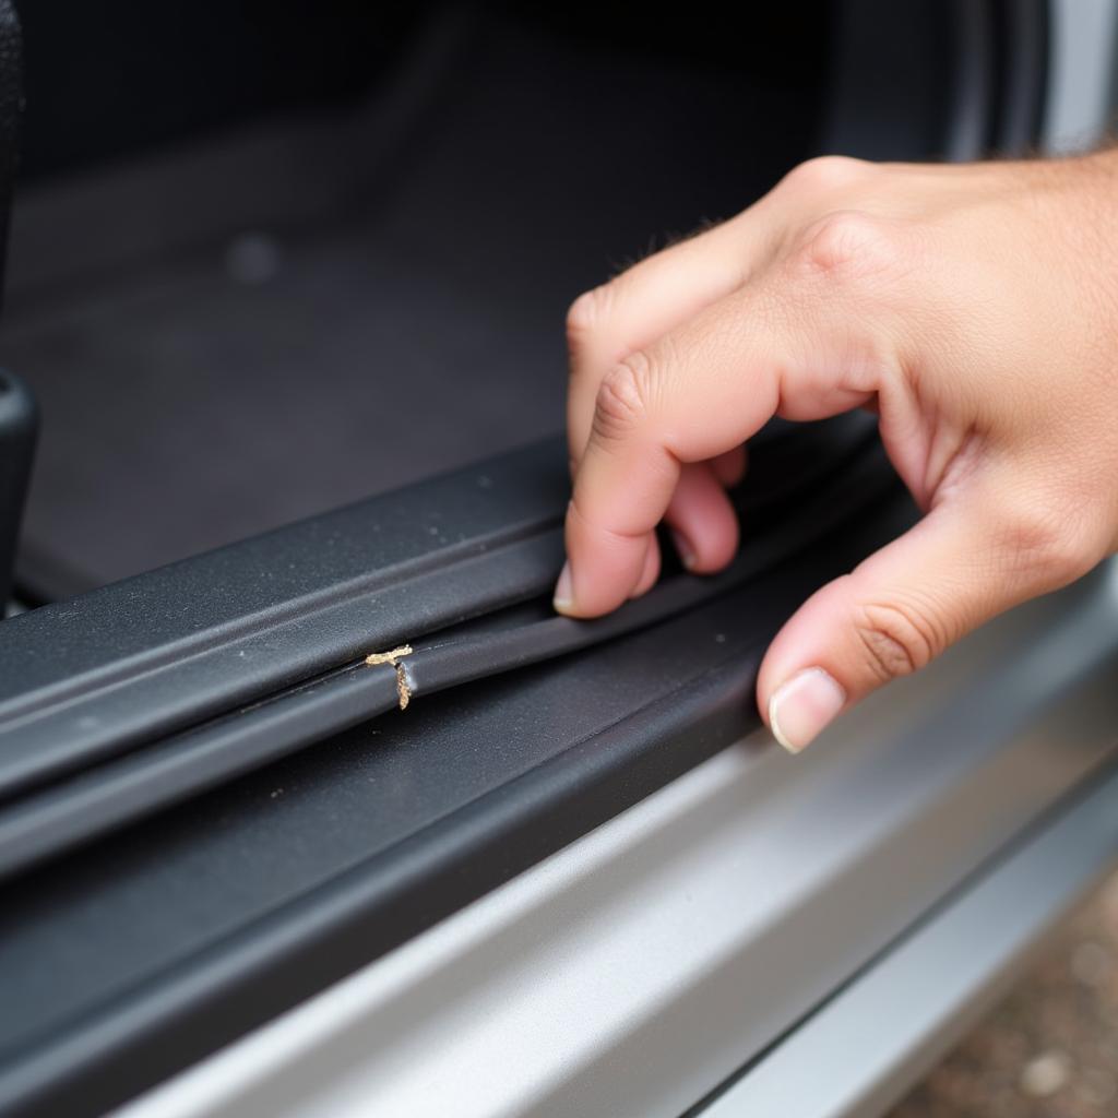
{"type": "Polygon", "coordinates": [[[27,4],[28,593],[561,429],[574,296],[818,145],[825,13],[695,15],[27,4]]]}

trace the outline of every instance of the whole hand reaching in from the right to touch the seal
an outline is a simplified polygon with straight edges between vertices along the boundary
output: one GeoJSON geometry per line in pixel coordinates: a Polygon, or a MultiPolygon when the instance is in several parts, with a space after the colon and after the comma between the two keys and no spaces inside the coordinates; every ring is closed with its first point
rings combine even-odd
{"type": "Polygon", "coordinates": [[[936,167],[827,157],[568,316],[574,495],[556,608],[732,557],[724,485],[771,416],[874,408],[923,512],[773,642],[796,752],[881,684],[1118,548],[1118,153],[936,167]]]}

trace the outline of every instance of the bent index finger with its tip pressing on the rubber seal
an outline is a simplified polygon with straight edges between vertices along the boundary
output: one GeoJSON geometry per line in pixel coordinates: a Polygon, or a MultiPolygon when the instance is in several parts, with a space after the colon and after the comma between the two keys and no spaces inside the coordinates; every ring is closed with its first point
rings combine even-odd
{"type": "Polygon", "coordinates": [[[793,325],[773,294],[735,292],[606,375],[567,513],[557,609],[593,617],[629,597],[683,463],[737,446],[781,407],[822,418],[872,395],[827,360],[852,352],[850,316],[795,300],[793,325]]]}

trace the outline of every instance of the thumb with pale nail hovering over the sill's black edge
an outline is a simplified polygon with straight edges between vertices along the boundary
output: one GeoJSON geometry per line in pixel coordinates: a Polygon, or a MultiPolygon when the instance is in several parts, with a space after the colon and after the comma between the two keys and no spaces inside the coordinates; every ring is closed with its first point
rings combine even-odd
{"type": "Polygon", "coordinates": [[[1067,580],[1049,577],[1044,549],[1022,550],[1020,532],[991,509],[976,496],[938,505],[788,620],[761,664],[757,700],[789,752],[881,684],[1067,580]]]}

